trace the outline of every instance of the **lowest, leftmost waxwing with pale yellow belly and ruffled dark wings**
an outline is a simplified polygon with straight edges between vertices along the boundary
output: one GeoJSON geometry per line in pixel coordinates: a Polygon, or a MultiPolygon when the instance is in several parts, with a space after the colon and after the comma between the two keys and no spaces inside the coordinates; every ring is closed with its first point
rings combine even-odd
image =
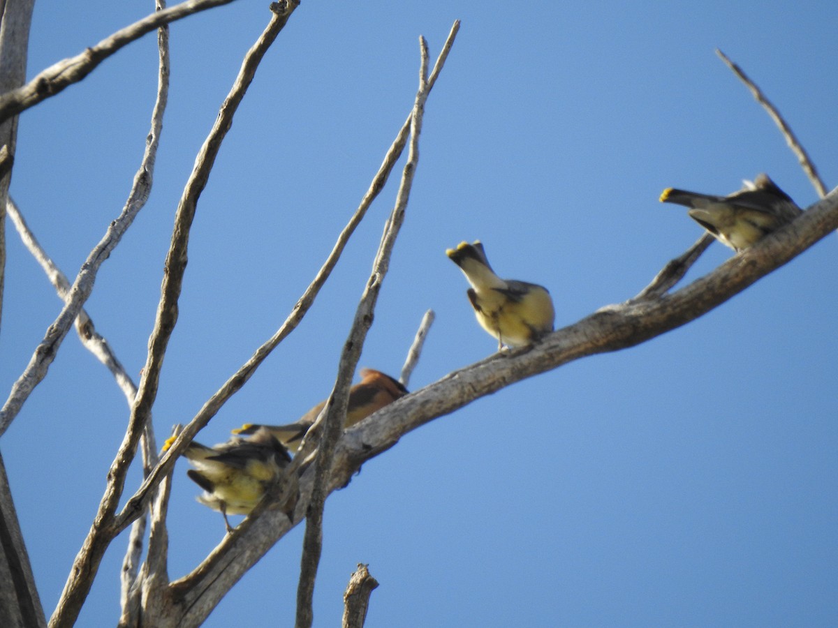
{"type": "MultiPolygon", "coordinates": [[[[163,451],[172,446],[175,438],[166,440],[163,451]]],[[[186,475],[204,489],[198,501],[224,516],[227,532],[233,529],[227,515],[250,514],[291,462],[288,451],[267,430],[254,430],[246,438],[231,438],[213,447],[193,440],[184,457],[195,467],[186,475]]]]}

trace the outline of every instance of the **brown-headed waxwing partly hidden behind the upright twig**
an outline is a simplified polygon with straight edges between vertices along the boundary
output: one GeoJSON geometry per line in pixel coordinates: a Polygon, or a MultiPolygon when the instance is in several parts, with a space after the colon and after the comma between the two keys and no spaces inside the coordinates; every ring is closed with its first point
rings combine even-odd
{"type": "MultiPolygon", "coordinates": [[[[349,405],[346,409],[346,420],[344,427],[351,427],[360,420],[365,419],[374,413],[375,410],[384,408],[396,399],[407,394],[407,389],[396,379],[385,373],[375,371],[372,368],[361,368],[361,381],[349,389],[349,405]]],[[[254,425],[246,423],[233,434],[250,435],[257,430],[267,430],[285,445],[289,451],[297,453],[300,442],[306,435],[308,429],[317,420],[318,414],[326,405],[325,401],[315,405],[306,414],[288,425],[254,425]]]]}

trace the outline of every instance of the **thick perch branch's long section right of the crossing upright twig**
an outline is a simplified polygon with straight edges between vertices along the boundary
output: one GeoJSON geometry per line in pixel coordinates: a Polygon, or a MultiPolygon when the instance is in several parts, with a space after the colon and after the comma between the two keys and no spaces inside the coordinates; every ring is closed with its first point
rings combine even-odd
{"type": "MultiPolygon", "coordinates": [[[[397,399],[345,431],[335,452],[333,485],[341,486],[363,461],[395,445],[408,431],[474,399],[579,358],[634,347],[701,317],[794,259],[835,228],[838,189],[792,224],[733,255],[679,291],[655,299],[605,306],[551,333],[534,347],[496,354],[397,399]]],[[[301,502],[304,500],[302,496],[301,502]]]]}

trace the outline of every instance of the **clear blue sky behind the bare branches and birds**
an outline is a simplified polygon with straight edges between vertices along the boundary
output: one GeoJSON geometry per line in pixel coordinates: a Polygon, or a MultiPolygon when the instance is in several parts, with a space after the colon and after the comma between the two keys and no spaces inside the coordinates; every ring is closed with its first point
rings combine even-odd
{"type": "MultiPolygon", "coordinates": [[[[29,75],[152,3],[37,3],[29,75]]],[[[180,319],[154,409],[189,420],[287,316],[463,21],[427,104],[421,157],[360,365],[397,375],[437,312],[411,389],[494,351],[444,250],[482,239],[499,274],[549,287],[557,327],[636,294],[700,229],[658,203],[768,172],[816,195],[773,122],[716,58],[766,91],[838,183],[838,4],[303,2],[267,54],[200,198],[180,319]]],[[[87,310],[138,378],[178,197],[241,58],[269,19],[238,2],[176,23],[147,207],[87,310]]],[[[153,36],[20,120],[12,193],[71,277],[125,202],[156,85],[153,36]]],[[[401,165],[400,165],[401,168],[401,165]]],[[[323,399],[396,186],[371,208],[308,317],[199,440],[284,423],[323,399]]],[[[0,384],[60,307],[11,226],[0,384]]],[[[730,250],[714,244],[688,279],[730,250]]],[[[359,562],[380,581],[367,625],[835,625],[838,239],[700,320],[481,399],[406,435],[326,507],[315,625],[339,622],[359,562]]],[[[3,398],[5,398],[5,393],[3,398]]],[[[105,484],[127,404],[67,338],[2,443],[47,615],[105,484]]],[[[220,541],[178,462],[170,576],[220,541]]],[[[137,486],[132,473],[130,486],[137,486]]],[[[206,625],[292,625],[302,528],[206,625]]],[[[126,540],[79,625],[114,625],[126,540]]]]}

